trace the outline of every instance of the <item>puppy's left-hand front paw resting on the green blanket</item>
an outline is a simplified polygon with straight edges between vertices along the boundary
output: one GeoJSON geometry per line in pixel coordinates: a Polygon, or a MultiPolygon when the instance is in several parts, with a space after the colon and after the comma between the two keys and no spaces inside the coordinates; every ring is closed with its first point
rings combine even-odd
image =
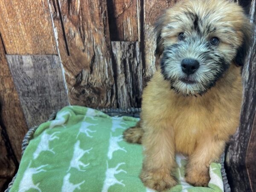
{"type": "Polygon", "coordinates": [[[148,188],[156,191],[165,191],[177,185],[177,181],[173,176],[166,172],[148,172],[142,170],[140,179],[148,188]]]}

